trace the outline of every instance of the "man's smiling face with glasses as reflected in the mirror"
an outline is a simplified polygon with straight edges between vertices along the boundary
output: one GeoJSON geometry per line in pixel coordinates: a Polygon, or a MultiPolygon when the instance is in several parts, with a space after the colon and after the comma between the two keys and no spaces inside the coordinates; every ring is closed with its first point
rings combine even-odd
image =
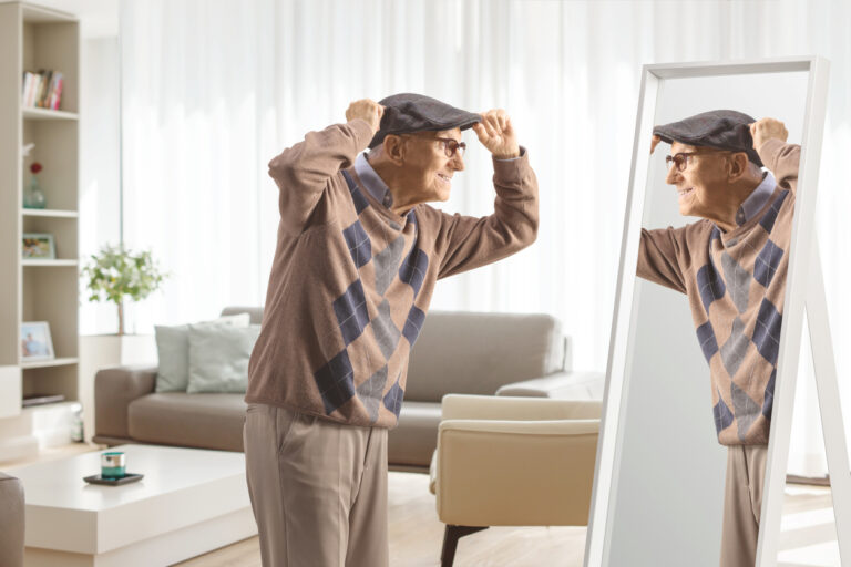
{"type": "Polygon", "coordinates": [[[729,154],[675,141],[670,145],[670,155],[678,153],[691,155],[686,157],[686,167],[681,172],[676,164],[670,165],[665,183],[677,189],[680,215],[716,219],[729,210],[732,197],[726,164],[729,154]]]}

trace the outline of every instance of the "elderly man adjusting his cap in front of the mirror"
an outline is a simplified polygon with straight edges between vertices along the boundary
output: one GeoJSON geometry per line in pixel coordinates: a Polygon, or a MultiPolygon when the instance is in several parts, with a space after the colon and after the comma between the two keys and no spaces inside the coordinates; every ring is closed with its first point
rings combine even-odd
{"type": "Polygon", "coordinates": [[[388,565],[387,430],[434,284],[537,233],[537,184],[504,111],[397,94],[346,118],[269,164],[280,224],[244,430],[265,566],[388,565]],[[426,205],[449,198],[469,127],[493,155],[483,218],[426,205]]]}

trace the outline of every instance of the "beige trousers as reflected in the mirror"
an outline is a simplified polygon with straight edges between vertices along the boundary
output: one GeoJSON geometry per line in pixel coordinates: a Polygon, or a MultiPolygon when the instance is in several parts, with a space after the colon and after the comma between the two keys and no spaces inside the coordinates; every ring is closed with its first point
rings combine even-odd
{"type": "Polygon", "coordinates": [[[727,449],[721,567],[753,567],[757,561],[767,454],[767,445],[735,445],[727,449]]]}

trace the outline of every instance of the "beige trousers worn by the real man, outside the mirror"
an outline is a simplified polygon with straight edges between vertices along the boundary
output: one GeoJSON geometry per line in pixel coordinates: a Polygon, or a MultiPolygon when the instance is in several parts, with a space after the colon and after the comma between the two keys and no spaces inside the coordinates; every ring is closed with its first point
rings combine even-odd
{"type": "Polygon", "coordinates": [[[264,567],[387,567],[387,430],[249,404],[245,466],[264,567]]]}

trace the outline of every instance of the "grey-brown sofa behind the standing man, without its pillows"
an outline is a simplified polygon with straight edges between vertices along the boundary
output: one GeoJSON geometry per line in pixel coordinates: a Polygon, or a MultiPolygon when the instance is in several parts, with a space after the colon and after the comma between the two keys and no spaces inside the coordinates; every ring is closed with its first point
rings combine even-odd
{"type": "MultiPolygon", "coordinates": [[[[222,315],[260,308],[229,307],[222,315]]],[[[428,472],[447,393],[602,399],[604,377],[571,372],[570,341],[546,315],[431,311],[411,351],[399,426],[388,439],[393,470],[428,472]]],[[[153,443],[243,450],[243,394],[155,393],[156,368],[95,377],[95,435],[109,445],[153,443]]]]}

